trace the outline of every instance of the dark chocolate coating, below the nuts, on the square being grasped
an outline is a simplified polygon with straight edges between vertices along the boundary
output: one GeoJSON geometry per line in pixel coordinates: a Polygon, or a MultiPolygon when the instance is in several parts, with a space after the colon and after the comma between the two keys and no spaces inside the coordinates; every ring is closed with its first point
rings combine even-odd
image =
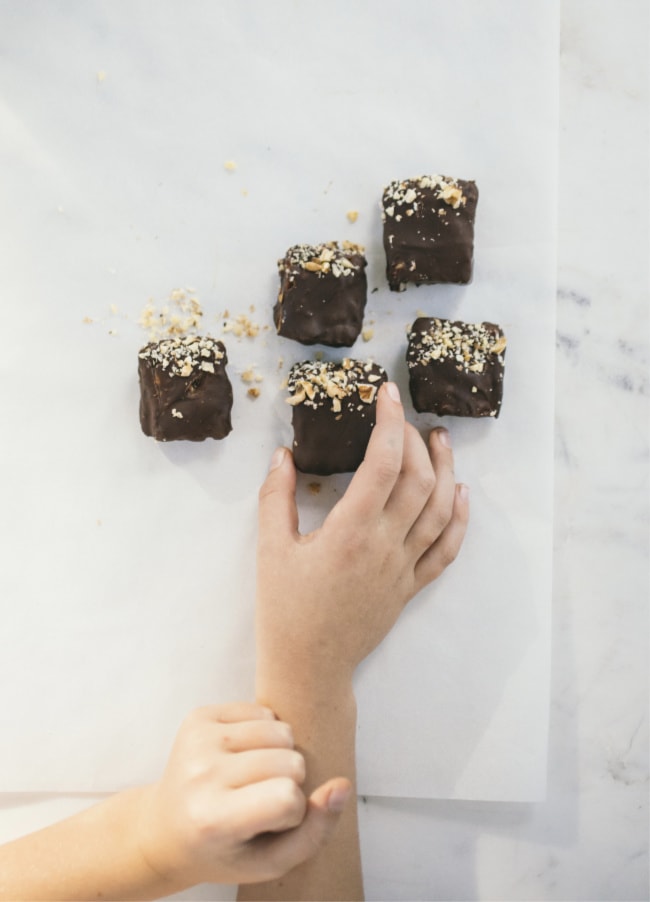
{"type": "MultiPolygon", "coordinates": [[[[356,361],[355,361],[356,363],[356,361]]],[[[298,364],[292,369],[295,375],[298,364]]],[[[349,473],[363,461],[370,434],[376,419],[376,391],[386,381],[386,373],[377,364],[366,364],[366,375],[375,380],[370,403],[361,400],[358,389],[353,388],[347,398],[341,399],[341,409],[334,409],[330,397],[307,400],[293,407],[293,457],[296,467],[303,473],[328,476],[332,473],[349,473]]],[[[290,376],[291,388],[291,376],[290,376]]],[[[363,390],[363,389],[362,389],[363,390]]]]}

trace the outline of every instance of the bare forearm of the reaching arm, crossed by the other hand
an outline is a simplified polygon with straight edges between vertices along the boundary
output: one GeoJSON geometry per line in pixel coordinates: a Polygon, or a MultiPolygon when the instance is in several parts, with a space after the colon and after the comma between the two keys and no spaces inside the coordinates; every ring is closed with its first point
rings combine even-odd
{"type": "Polygon", "coordinates": [[[298,674],[285,666],[258,664],[257,695],[260,703],[268,704],[293,727],[296,748],[307,765],[305,793],[341,776],[352,782],[352,798],[334,835],[317,855],[277,881],[240,887],[238,899],[360,900],[363,882],[354,789],[356,703],[351,682],[321,676],[311,683],[304,668],[298,674]]]}

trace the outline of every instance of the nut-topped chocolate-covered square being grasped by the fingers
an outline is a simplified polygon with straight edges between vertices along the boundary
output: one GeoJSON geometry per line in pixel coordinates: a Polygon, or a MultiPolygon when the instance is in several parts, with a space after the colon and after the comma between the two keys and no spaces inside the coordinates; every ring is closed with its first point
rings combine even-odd
{"type": "Polygon", "coordinates": [[[293,457],[304,473],[328,476],[356,470],[375,425],[377,391],[386,381],[376,363],[306,361],[289,373],[293,457]]]}

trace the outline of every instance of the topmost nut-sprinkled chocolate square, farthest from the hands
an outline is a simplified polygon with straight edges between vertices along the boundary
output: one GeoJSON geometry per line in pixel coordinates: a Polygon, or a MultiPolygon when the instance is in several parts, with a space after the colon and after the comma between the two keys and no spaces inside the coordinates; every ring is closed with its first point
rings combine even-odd
{"type": "Polygon", "coordinates": [[[393,181],[384,189],[382,221],[386,276],[391,291],[407,283],[472,278],[478,189],[444,175],[393,181]]]}

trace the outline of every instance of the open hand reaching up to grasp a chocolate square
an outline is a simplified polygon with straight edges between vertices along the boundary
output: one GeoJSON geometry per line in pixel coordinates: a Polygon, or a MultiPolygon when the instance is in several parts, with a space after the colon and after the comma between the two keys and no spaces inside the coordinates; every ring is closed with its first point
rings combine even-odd
{"type": "Polygon", "coordinates": [[[291,455],[280,449],[273,464],[260,492],[258,674],[262,683],[281,673],[349,682],[460,549],[468,500],[449,434],[434,430],[427,450],[396,387],[382,386],[364,462],[323,526],[304,536],[291,455]]]}

